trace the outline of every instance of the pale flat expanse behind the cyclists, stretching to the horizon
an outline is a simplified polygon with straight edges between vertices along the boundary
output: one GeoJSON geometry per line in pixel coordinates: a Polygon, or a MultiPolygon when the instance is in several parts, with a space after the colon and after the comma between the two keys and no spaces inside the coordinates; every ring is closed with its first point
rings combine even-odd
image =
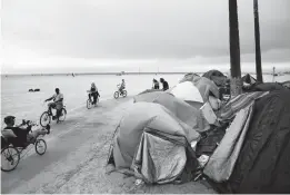
{"type": "MultiPolygon", "coordinates": [[[[128,96],[137,95],[152,87],[152,79],[163,77],[169,86],[179,82],[183,75],[124,75],[124,76],[18,76],[1,77],[1,126],[3,117],[13,115],[18,123],[21,119],[39,120],[40,115],[47,109],[44,99],[54,94],[54,88],[60,88],[64,96],[64,105],[70,111],[86,107],[87,90],[90,84],[96,82],[101,98],[100,101],[113,99],[113,92],[121,79],[126,80],[128,96]],[[28,92],[30,88],[39,88],[39,92],[28,92]]],[[[264,75],[264,81],[272,81],[272,76],[264,75]]],[[[290,75],[276,77],[276,81],[290,80],[290,75]]],[[[98,108],[96,108],[98,109],[98,108]]]]}

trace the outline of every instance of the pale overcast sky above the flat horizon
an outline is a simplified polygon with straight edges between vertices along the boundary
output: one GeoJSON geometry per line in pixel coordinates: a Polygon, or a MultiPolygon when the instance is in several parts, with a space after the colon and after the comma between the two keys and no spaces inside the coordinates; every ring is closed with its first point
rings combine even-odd
{"type": "MultiPolygon", "coordinates": [[[[229,68],[228,0],[2,0],[2,74],[229,68]],[[207,67],[207,68],[204,68],[207,67]]],[[[252,0],[238,0],[242,70],[252,0]]],[[[260,0],[263,69],[290,69],[290,0],[260,0]]]]}

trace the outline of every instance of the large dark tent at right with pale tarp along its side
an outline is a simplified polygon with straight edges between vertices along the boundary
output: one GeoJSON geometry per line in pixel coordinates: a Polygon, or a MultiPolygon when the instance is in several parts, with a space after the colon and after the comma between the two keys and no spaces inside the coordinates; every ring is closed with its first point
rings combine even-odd
{"type": "Polygon", "coordinates": [[[252,114],[248,110],[234,118],[232,126],[241,125],[227,130],[204,168],[220,193],[290,193],[288,97],[288,89],[271,91],[254,100],[252,114]]]}

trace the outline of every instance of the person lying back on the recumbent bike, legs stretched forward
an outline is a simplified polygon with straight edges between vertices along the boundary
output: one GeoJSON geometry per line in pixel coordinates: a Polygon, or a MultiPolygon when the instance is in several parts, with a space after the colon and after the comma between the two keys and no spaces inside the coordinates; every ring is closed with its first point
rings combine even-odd
{"type": "MultiPolygon", "coordinates": [[[[16,147],[27,147],[29,144],[33,144],[39,135],[50,134],[50,126],[46,128],[38,128],[31,130],[32,124],[30,120],[22,120],[22,124],[16,125],[14,116],[4,117],[6,128],[2,133],[2,142],[6,144],[11,143],[16,147]],[[24,127],[27,126],[27,127],[24,127]],[[24,127],[24,128],[23,128],[24,127]]],[[[4,143],[1,143],[3,148],[4,143]]]]}

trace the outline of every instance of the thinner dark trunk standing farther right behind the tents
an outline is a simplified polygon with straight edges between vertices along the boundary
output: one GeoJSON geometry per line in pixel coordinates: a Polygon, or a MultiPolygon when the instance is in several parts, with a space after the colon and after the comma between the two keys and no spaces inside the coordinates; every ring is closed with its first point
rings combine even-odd
{"type": "Polygon", "coordinates": [[[253,0],[253,18],[254,18],[254,43],[256,43],[256,74],[257,81],[263,82],[261,48],[260,48],[260,25],[258,0],[253,0]]]}

